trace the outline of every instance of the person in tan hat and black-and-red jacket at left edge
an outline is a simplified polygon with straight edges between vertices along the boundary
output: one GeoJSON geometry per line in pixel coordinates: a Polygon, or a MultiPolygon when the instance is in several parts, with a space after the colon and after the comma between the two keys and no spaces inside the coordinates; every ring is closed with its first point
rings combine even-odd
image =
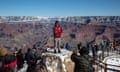
{"type": "Polygon", "coordinates": [[[14,55],[9,55],[6,48],[0,48],[0,72],[17,72],[17,59],[14,55]]]}

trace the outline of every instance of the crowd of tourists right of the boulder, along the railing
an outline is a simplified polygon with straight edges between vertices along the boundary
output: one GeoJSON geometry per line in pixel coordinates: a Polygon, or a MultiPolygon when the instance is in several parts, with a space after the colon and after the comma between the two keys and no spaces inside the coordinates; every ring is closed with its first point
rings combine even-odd
{"type": "Polygon", "coordinates": [[[119,42],[114,40],[113,42],[109,42],[107,40],[103,40],[100,44],[92,43],[83,44],[80,42],[73,50],[73,54],[71,55],[71,60],[75,63],[74,72],[95,72],[95,60],[96,57],[99,57],[98,51],[101,51],[101,54],[104,55],[106,51],[117,50],[117,46],[119,46],[119,42]],[[90,55],[92,52],[92,55],[90,55]]]}

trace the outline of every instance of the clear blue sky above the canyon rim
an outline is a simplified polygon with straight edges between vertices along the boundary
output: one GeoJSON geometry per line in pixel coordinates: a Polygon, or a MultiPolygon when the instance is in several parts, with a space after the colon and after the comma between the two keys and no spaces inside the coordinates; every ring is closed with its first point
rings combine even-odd
{"type": "Polygon", "coordinates": [[[0,0],[0,16],[120,16],[120,0],[0,0]]]}

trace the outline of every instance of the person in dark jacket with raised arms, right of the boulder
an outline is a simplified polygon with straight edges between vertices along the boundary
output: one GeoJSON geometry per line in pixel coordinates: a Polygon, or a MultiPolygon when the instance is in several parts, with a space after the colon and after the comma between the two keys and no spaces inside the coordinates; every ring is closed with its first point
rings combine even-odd
{"type": "Polygon", "coordinates": [[[80,55],[77,55],[76,50],[71,55],[71,60],[75,63],[74,72],[94,72],[93,59],[88,55],[89,51],[87,48],[81,48],[79,51],[80,55]]]}

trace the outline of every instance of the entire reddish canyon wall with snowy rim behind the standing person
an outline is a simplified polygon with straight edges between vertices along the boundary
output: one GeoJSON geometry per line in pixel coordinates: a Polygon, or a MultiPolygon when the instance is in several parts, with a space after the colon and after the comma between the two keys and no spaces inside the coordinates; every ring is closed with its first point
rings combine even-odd
{"type": "Polygon", "coordinates": [[[63,28],[63,44],[70,42],[73,47],[80,41],[85,44],[100,42],[103,37],[110,41],[120,37],[120,16],[6,16],[0,17],[0,46],[31,47],[35,43],[53,46],[52,27],[56,20],[63,28]]]}

